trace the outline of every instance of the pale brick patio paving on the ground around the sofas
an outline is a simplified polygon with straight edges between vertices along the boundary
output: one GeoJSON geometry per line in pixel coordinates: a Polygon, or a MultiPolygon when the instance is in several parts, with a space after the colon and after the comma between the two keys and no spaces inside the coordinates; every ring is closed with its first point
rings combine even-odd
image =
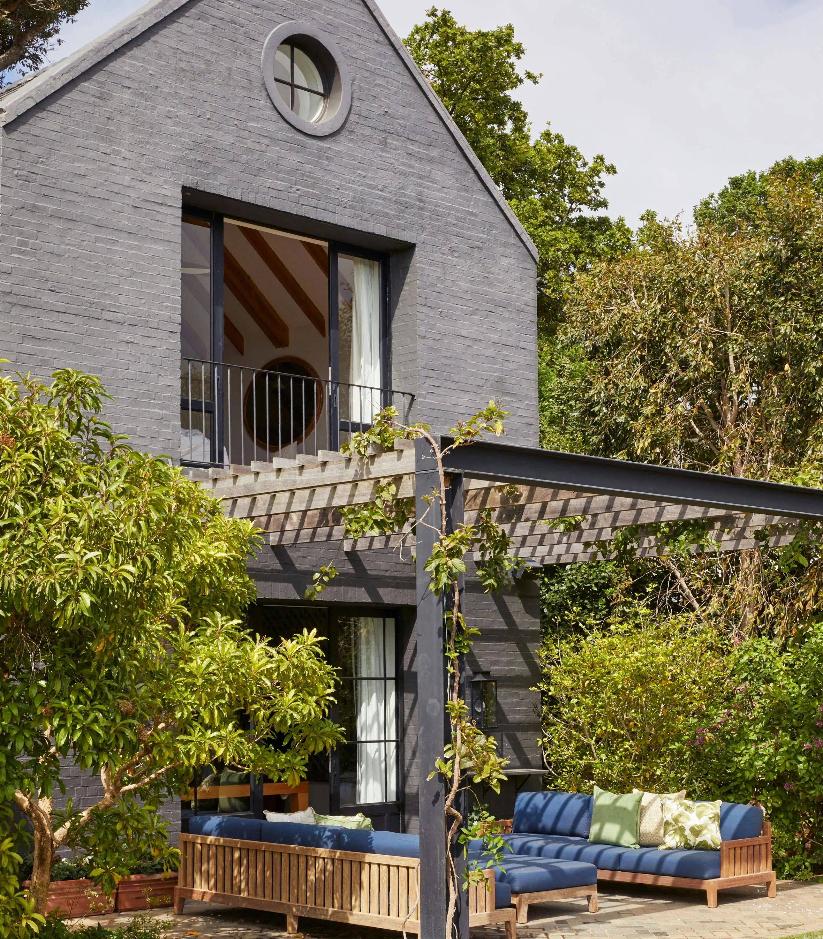
{"type": "MultiPolygon", "coordinates": [[[[778,884],[769,900],[759,887],[739,887],[719,894],[709,910],[705,894],[686,890],[608,885],[600,893],[600,912],[587,913],[585,901],[533,907],[518,939],[774,939],[823,929],[823,885],[778,884]]],[[[169,921],[169,939],[282,939],[285,916],[188,901],[182,916],[152,911],[169,921]]],[[[84,923],[125,923],[130,914],[92,916],[84,923]]],[[[311,939],[399,939],[401,933],[300,919],[300,934],[311,939]]],[[[502,928],[472,930],[472,939],[498,939],[502,928]]],[[[411,933],[409,933],[411,935],[411,933]]]]}

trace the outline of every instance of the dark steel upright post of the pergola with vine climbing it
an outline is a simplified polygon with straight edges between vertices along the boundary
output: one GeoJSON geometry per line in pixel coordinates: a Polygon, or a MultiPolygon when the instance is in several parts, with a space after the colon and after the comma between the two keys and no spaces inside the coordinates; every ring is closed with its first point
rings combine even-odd
{"type": "Polygon", "coordinates": [[[440,539],[440,500],[434,453],[424,439],[416,441],[416,556],[418,639],[418,749],[420,835],[420,936],[446,936],[446,793],[441,777],[429,779],[434,761],[443,755],[446,741],[446,658],[443,654],[443,597],[429,589],[431,577],[423,569],[440,539]]]}

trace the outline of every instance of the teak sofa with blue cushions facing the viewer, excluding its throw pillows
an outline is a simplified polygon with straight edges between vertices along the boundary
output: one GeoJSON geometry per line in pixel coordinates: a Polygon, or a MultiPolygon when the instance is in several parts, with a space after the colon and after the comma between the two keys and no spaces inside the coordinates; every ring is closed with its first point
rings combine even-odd
{"type": "MultiPolygon", "coordinates": [[[[768,896],[777,896],[771,870],[771,824],[762,808],[724,802],[719,851],[590,843],[591,812],[591,795],[518,793],[513,817],[501,823],[504,839],[514,855],[594,864],[598,880],[705,890],[710,907],[717,906],[718,890],[733,886],[763,884],[768,896]]],[[[470,847],[477,850],[480,842],[470,847]]]]}

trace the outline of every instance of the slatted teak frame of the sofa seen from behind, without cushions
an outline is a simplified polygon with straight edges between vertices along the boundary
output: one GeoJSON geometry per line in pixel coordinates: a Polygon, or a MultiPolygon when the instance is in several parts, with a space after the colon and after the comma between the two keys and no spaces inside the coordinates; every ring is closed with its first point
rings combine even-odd
{"type": "MultiPolygon", "coordinates": [[[[181,835],[183,855],[175,887],[175,913],[187,900],[284,913],[286,931],[297,917],[331,919],[399,932],[420,931],[419,860],[358,854],[267,841],[181,835]]],[[[503,923],[516,939],[515,912],[495,909],[495,879],[468,889],[470,926],[503,923]]]]}

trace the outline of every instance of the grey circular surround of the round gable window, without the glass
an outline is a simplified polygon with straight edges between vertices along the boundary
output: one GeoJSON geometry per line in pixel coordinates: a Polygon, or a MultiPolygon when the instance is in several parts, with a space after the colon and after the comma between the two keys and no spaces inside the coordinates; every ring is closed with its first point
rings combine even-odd
{"type": "Polygon", "coordinates": [[[340,49],[328,36],[312,23],[293,20],[282,23],[268,34],[263,44],[263,80],[268,97],[282,117],[298,131],[312,137],[327,137],[339,131],[352,106],[351,74],[340,49]],[[320,69],[324,83],[328,85],[328,98],[323,116],[318,121],[308,121],[298,116],[283,100],[274,78],[274,56],[284,42],[302,49],[320,69]]]}

